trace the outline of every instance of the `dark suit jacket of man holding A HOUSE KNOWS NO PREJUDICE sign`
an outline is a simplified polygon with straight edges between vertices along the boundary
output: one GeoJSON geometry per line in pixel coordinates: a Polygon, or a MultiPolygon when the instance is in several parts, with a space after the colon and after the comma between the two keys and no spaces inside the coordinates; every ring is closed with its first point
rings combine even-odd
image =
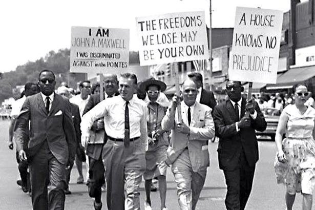
{"type": "MultiPolygon", "coordinates": [[[[241,117],[245,114],[245,104],[246,98],[243,97],[241,117]]],[[[254,103],[254,107],[257,112],[256,119],[250,118],[251,127],[240,129],[239,132],[236,132],[235,122],[238,120],[232,102],[228,99],[215,107],[213,119],[216,136],[220,138],[218,145],[220,169],[227,171],[236,169],[242,148],[250,166],[254,166],[258,161],[258,143],[255,130],[264,131],[267,123],[257,102],[254,103]]]]}

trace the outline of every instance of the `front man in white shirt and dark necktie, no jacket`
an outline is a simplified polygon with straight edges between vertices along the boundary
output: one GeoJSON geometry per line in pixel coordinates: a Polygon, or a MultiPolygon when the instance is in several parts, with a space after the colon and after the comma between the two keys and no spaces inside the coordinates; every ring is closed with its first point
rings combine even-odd
{"type": "Polygon", "coordinates": [[[108,209],[140,209],[139,185],[145,170],[148,138],[146,104],[134,97],[136,88],[135,74],[121,74],[120,95],[99,102],[83,115],[81,122],[82,143],[85,143],[89,141],[93,122],[104,118],[108,141],[102,150],[102,160],[106,167],[108,209]]]}

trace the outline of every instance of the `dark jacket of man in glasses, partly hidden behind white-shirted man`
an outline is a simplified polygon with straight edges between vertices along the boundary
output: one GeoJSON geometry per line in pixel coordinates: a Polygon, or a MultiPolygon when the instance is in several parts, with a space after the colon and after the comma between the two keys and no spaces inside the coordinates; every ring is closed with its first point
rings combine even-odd
{"type": "MultiPolygon", "coordinates": [[[[116,93],[115,96],[116,95],[119,95],[119,93],[116,93]]],[[[83,110],[83,115],[85,115],[93,107],[95,107],[96,104],[99,103],[99,101],[100,101],[99,94],[91,95],[85,109],[83,110]]],[[[97,132],[97,131],[95,131],[95,128],[96,128],[96,121],[94,121],[91,130],[94,132],[97,132]]],[[[106,143],[106,141],[107,141],[107,135],[105,132],[104,133],[104,143],[106,143]]],[[[101,157],[102,149],[103,149],[103,144],[90,144],[89,143],[87,146],[86,154],[87,154],[87,156],[98,160],[101,157]]]]}

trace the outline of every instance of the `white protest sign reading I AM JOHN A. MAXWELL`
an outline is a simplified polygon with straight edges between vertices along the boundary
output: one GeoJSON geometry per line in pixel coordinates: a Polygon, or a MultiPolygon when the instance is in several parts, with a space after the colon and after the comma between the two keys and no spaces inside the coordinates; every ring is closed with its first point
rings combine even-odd
{"type": "Polygon", "coordinates": [[[71,27],[70,72],[127,69],[129,29],[71,27]]]}

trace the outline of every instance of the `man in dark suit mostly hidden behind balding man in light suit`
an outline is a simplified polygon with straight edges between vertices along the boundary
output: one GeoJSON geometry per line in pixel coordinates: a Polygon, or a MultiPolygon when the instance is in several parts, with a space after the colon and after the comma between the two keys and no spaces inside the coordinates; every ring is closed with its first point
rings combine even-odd
{"type": "Polygon", "coordinates": [[[202,75],[199,72],[191,72],[187,76],[196,83],[198,89],[196,101],[210,107],[213,110],[217,102],[212,91],[202,88],[202,75]]]}

